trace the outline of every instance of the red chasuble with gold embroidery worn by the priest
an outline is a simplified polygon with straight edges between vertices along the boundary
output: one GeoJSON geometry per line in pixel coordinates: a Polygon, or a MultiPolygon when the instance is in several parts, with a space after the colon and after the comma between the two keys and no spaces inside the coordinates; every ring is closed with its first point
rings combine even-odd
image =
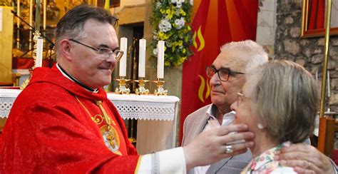
{"type": "Polygon", "coordinates": [[[1,173],[134,173],[139,156],[103,89],[86,91],[55,66],[33,74],[4,128],[1,173]]]}

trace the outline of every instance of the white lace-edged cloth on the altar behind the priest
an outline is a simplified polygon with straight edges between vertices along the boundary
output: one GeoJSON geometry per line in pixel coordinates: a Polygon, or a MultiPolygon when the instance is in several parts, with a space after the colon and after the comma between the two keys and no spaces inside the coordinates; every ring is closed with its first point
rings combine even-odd
{"type": "MultiPolygon", "coordinates": [[[[9,116],[11,106],[21,91],[0,88],[0,118],[9,116]]],[[[138,96],[107,93],[123,119],[173,121],[180,99],[175,96],[138,96]]]]}

